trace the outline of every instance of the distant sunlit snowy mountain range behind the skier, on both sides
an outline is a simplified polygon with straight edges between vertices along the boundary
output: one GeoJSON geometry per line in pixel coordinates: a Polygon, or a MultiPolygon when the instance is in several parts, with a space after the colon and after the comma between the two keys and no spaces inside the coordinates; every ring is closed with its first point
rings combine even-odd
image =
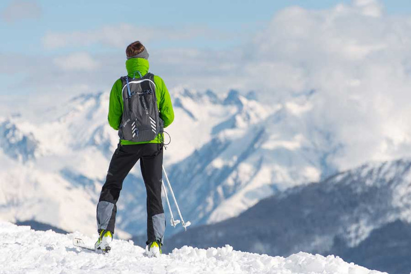
{"type": "MultiPolygon", "coordinates": [[[[334,170],[330,133],[305,125],[307,93],[287,102],[171,90],[175,122],[164,165],[193,226],[236,216],[260,199],[334,170]]],[[[0,217],[67,231],[95,231],[95,206],[117,132],[107,123],[108,93],[85,94],[33,117],[0,119],[0,217]]],[[[145,231],[145,189],[138,168],[118,204],[120,237],[145,231]],[[123,233],[122,233],[123,232],[123,233]]],[[[174,232],[169,230],[170,232],[174,232]]]]}

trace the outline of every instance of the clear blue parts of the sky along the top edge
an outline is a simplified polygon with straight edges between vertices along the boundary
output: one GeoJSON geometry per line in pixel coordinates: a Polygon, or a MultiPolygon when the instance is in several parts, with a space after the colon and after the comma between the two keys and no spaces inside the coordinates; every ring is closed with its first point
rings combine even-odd
{"type": "MultiPolygon", "coordinates": [[[[13,3],[24,1],[2,1],[0,11],[13,3]]],[[[33,1],[30,1],[33,2],[33,1]]],[[[278,10],[297,5],[307,9],[324,9],[338,3],[349,4],[347,0],[288,0],[288,1],[141,1],[131,5],[129,1],[36,1],[39,14],[32,18],[25,15],[14,16],[15,20],[0,20],[2,37],[7,40],[0,44],[1,52],[55,54],[70,51],[70,48],[45,50],[42,38],[50,32],[71,32],[98,29],[102,26],[120,23],[142,27],[206,27],[220,35],[184,41],[160,39],[151,46],[195,47],[223,49],[241,44],[248,34],[262,28],[278,10]],[[138,11],[141,9],[142,11],[138,11]],[[225,35],[225,34],[235,35],[225,35]],[[227,38],[225,38],[227,37],[227,38]]],[[[389,14],[411,13],[411,1],[385,0],[384,8],[389,14]]],[[[30,17],[30,16],[28,16],[30,17]]],[[[117,50],[113,47],[83,47],[84,50],[106,52],[117,50]]]]}

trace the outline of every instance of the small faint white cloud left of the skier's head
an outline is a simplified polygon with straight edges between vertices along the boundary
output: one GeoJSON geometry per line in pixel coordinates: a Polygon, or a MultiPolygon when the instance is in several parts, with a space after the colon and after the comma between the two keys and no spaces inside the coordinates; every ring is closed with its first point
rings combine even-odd
{"type": "Polygon", "coordinates": [[[53,62],[63,70],[91,71],[98,67],[98,62],[86,52],[76,52],[69,56],[54,58],[53,62]]]}

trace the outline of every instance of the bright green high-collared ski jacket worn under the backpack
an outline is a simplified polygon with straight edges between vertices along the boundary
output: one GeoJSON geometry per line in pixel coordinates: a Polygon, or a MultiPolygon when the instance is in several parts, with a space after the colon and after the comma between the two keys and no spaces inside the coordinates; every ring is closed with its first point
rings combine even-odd
{"type": "MultiPolygon", "coordinates": [[[[133,78],[134,75],[139,77],[138,72],[140,72],[141,76],[144,76],[148,72],[148,60],[143,58],[132,58],[128,59],[125,62],[125,66],[127,68],[128,77],[133,78]]],[[[157,106],[160,111],[160,118],[164,121],[164,127],[169,126],[174,120],[174,111],[173,106],[171,104],[170,94],[167,90],[167,87],[164,84],[163,79],[158,77],[157,75],[154,76],[154,83],[156,84],[156,96],[157,96],[157,106]]],[[[118,79],[113,87],[111,88],[110,92],[110,101],[108,106],[108,123],[110,124],[113,129],[116,131],[119,130],[119,126],[121,123],[121,117],[123,116],[123,100],[122,100],[122,90],[123,86],[121,84],[121,79],[118,79]]],[[[161,143],[163,139],[162,133],[158,134],[157,137],[148,142],[132,142],[127,140],[120,140],[121,144],[139,144],[139,143],[161,143]]]]}

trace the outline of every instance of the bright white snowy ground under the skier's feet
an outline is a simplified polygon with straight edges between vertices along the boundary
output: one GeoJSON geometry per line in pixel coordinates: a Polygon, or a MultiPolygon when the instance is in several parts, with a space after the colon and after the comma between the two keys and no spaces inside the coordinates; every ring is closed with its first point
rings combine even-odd
{"type": "Polygon", "coordinates": [[[303,252],[283,258],[234,251],[228,245],[207,250],[185,246],[147,258],[131,241],[114,240],[110,253],[97,254],[72,246],[74,237],[83,236],[80,233],[34,231],[0,222],[0,234],[0,273],[381,273],[303,252]]]}

